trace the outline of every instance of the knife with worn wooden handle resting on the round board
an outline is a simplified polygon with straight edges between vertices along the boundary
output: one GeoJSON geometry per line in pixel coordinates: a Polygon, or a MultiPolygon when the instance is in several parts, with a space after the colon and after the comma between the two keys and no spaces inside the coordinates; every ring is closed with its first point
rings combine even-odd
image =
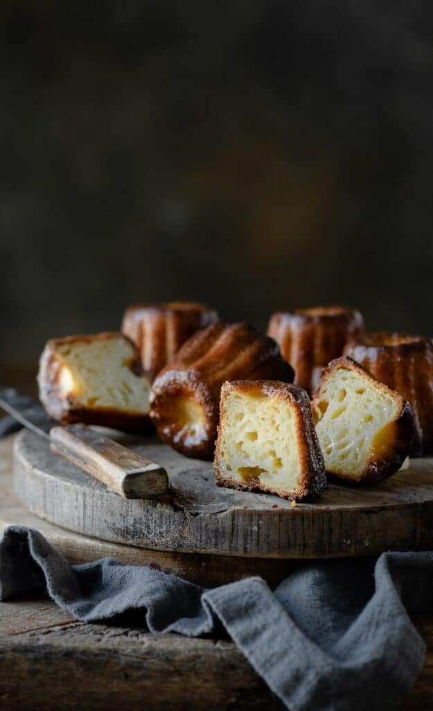
{"type": "Polygon", "coordinates": [[[50,447],[124,498],[151,498],[168,490],[159,464],[122,447],[85,424],[60,426],[42,405],[13,387],[0,386],[0,408],[24,427],[48,439],[50,447]]]}

